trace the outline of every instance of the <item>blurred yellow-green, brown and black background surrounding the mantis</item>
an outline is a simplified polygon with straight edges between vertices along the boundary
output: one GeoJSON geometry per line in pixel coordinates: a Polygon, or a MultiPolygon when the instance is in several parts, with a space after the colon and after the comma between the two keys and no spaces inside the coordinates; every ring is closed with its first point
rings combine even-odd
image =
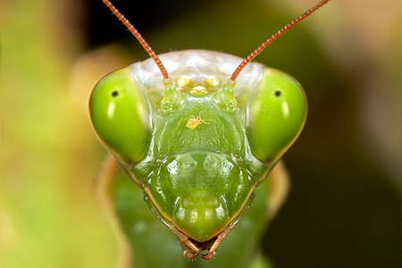
{"type": "MultiPolygon", "coordinates": [[[[113,4],[157,53],[246,57],[315,1],[113,4]]],[[[8,0],[0,20],[0,267],[116,267],[88,95],[147,54],[100,0],[8,0]]],[[[263,238],[275,267],[400,267],[400,25],[398,1],[331,1],[256,58],[292,74],[309,101],[284,156],[289,198],[263,238]]]]}

